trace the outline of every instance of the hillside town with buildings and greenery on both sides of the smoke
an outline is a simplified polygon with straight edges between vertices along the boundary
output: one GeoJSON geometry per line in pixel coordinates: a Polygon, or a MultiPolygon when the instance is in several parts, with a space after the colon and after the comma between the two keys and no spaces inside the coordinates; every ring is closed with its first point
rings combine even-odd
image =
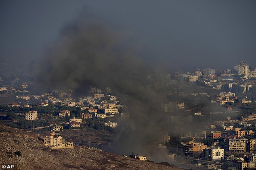
{"type": "MultiPolygon", "coordinates": [[[[90,86],[77,95],[76,89],[33,83],[28,75],[0,74],[0,121],[40,134],[49,149],[77,145],[111,151],[122,122],[136,117],[128,107],[141,109],[126,106],[108,86],[90,86]]],[[[145,146],[164,151],[162,162],[197,169],[256,168],[256,69],[240,62],[234,68],[148,74],[143,83],[168,98],[155,111],[156,117],[168,118],[166,128],[145,146]]],[[[133,152],[131,158],[155,161],[133,152]]]]}

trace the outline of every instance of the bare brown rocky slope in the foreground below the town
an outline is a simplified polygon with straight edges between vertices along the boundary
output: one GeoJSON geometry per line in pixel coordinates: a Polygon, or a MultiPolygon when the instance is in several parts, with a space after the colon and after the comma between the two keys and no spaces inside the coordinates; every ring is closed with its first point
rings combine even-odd
{"type": "Polygon", "coordinates": [[[0,163],[16,164],[18,170],[178,170],[85,147],[50,150],[36,133],[0,123],[0,163]]]}

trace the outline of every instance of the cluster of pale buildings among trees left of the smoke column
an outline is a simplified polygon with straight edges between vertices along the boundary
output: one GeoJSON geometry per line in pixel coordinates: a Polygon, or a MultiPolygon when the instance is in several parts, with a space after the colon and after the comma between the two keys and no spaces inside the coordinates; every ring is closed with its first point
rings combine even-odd
{"type": "MultiPolygon", "coordinates": [[[[19,86],[19,89],[27,90],[28,84],[23,83],[19,86]]],[[[15,88],[2,88],[2,90],[12,89],[11,92],[17,91],[15,88]]],[[[28,92],[28,90],[27,90],[28,92]]],[[[82,122],[86,123],[86,119],[105,119],[106,117],[113,117],[116,114],[119,114],[119,110],[123,108],[120,104],[118,97],[111,93],[111,88],[107,87],[104,91],[99,88],[92,87],[89,94],[90,96],[86,96],[84,98],[79,98],[75,100],[71,98],[73,90],[67,90],[67,92],[62,92],[61,90],[52,90],[52,93],[42,93],[41,95],[22,95],[16,96],[17,99],[24,100],[26,103],[28,102],[36,102],[38,104],[17,104],[11,103],[8,104],[7,107],[45,107],[49,104],[58,104],[65,107],[69,107],[70,109],[77,108],[81,111],[80,117],[77,119],[69,120],[68,124],[70,128],[81,127],[82,122]],[[58,96],[58,97],[57,97],[58,96]],[[77,120],[80,121],[77,121],[77,120]]],[[[54,116],[54,115],[51,115],[54,116]]],[[[69,109],[64,111],[59,111],[58,116],[55,115],[55,118],[58,119],[66,119],[71,116],[71,111],[69,109]]],[[[34,121],[37,119],[48,119],[48,115],[38,114],[37,111],[29,111],[24,113],[24,117],[26,120],[34,121]]],[[[102,122],[102,121],[101,121],[102,122]]],[[[109,127],[117,127],[116,122],[102,122],[104,125],[109,127]]]]}

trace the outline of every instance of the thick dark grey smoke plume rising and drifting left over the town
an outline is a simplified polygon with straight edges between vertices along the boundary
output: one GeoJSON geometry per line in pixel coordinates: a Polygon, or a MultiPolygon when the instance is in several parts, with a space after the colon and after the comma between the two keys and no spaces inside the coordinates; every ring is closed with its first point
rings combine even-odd
{"type": "Polygon", "coordinates": [[[124,37],[102,22],[76,20],[61,30],[56,45],[34,66],[32,74],[54,88],[110,86],[130,113],[130,119],[120,122],[113,152],[147,155],[145,146],[157,141],[168,124],[166,117],[156,115],[164,97],[145,86],[146,75],[154,69],[145,66],[124,37]]]}

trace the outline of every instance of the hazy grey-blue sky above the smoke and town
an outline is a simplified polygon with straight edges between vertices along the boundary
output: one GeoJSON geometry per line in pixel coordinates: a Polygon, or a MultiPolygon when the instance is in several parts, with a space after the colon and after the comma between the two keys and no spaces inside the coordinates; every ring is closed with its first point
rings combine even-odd
{"type": "Polygon", "coordinates": [[[82,10],[170,68],[256,68],[255,0],[0,0],[0,59],[31,60],[82,10]]]}

